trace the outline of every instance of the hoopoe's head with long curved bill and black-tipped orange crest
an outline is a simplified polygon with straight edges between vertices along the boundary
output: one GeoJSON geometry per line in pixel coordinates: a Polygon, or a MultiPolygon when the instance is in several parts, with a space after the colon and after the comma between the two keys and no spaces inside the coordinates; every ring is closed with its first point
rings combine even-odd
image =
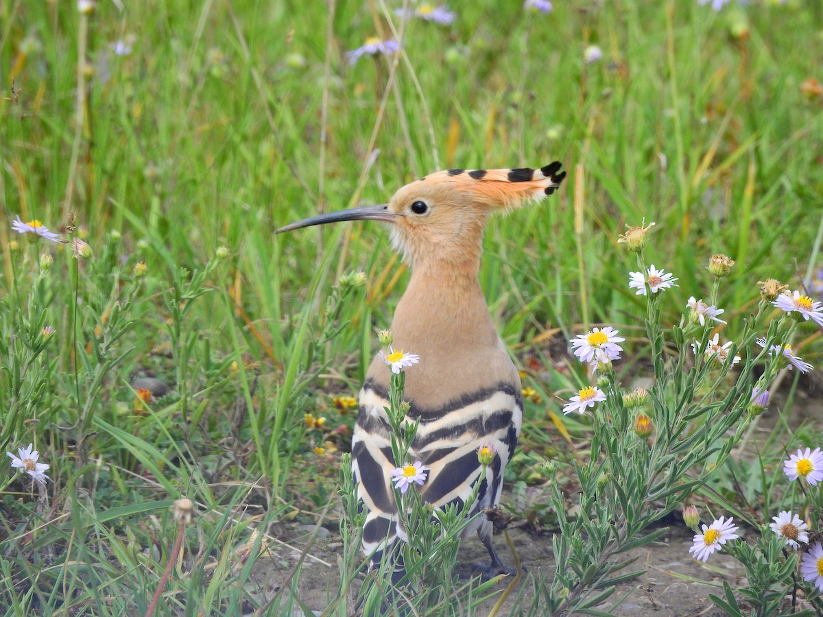
{"type": "Polygon", "coordinates": [[[277,233],[341,220],[383,220],[412,262],[473,262],[492,213],[551,195],[564,178],[559,162],[540,169],[449,169],[408,183],[388,204],[313,216],[277,233]]]}

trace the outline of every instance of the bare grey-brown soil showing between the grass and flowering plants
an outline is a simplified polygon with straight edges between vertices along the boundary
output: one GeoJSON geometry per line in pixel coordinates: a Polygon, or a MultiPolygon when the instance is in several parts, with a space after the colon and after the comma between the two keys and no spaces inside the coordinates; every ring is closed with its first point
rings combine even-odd
{"type": "MultiPolygon", "coordinates": [[[[816,384],[819,385],[819,384],[816,384]]],[[[782,398],[782,397],[776,397],[782,398]]],[[[773,401],[770,411],[758,419],[758,424],[749,446],[764,443],[765,439],[774,430],[779,420],[778,411],[783,407],[784,400],[773,401]]],[[[791,410],[788,413],[788,425],[797,428],[801,424],[811,423],[815,427],[821,426],[823,419],[823,396],[820,387],[797,390],[791,410]]],[[[751,452],[754,452],[752,448],[751,452]]],[[[751,455],[751,452],[749,454],[751,455]]],[[[737,457],[746,457],[746,452],[736,452],[737,457]]],[[[505,494],[504,494],[505,500],[505,494]]],[[[732,588],[744,587],[746,584],[745,572],[735,559],[725,554],[714,554],[708,564],[692,559],[689,547],[692,543],[693,532],[677,517],[667,520],[669,531],[662,540],[651,547],[644,547],[630,551],[627,557],[636,558],[631,569],[645,569],[646,572],[629,582],[622,583],[617,591],[608,598],[608,601],[598,606],[599,610],[614,610],[616,615],[657,615],[659,617],[681,617],[685,615],[724,615],[712,601],[709,594],[722,596],[723,582],[728,582],[732,588]],[[617,602],[621,605],[615,607],[617,602]]],[[[300,559],[300,553],[305,547],[312,526],[297,524],[281,528],[281,540],[289,545],[272,545],[271,559],[258,559],[258,569],[255,572],[255,581],[261,591],[261,599],[270,598],[280,591],[284,584],[288,586],[288,578],[294,565],[300,559]]],[[[337,590],[339,581],[337,560],[342,554],[342,543],[337,533],[326,529],[320,530],[318,539],[309,548],[305,558],[304,568],[300,574],[298,595],[300,601],[310,610],[319,615],[328,606],[329,599],[337,590]]],[[[743,533],[747,531],[744,529],[743,533]]],[[[756,533],[754,531],[748,531],[756,533]]],[[[532,605],[531,577],[541,578],[551,573],[553,564],[551,551],[551,531],[532,533],[523,529],[514,528],[509,531],[514,540],[519,559],[527,569],[523,582],[525,587],[521,606],[532,605]]],[[[507,556],[507,547],[504,540],[495,538],[495,546],[506,563],[511,564],[511,556],[507,556]]],[[[461,568],[458,574],[467,580],[470,578],[474,564],[487,559],[486,550],[475,537],[463,540],[460,549],[461,568]]],[[[622,556],[622,555],[621,555],[622,556]]],[[[505,583],[500,583],[500,591],[505,583]]],[[[511,594],[512,597],[516,594],[511,594]]],[[[802,603],[802,599],[798,599],[802,603]]],[[[478,611],[485,615],[494,605],[490,601],[478,611]]],[[[507,600],[499,615],[510,615],[513,601],[507,600]]]]}

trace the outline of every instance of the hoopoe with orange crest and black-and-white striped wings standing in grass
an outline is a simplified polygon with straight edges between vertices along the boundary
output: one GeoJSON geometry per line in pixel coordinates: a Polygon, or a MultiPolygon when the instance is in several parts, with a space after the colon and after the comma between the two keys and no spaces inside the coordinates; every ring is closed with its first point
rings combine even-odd
{"type": "MultiPolygon", "coordinates": [[[[409,369],[407,419],[420,419],[409,453],[430,467],[422,498],[437,508],[463,508],[477,486],[473,515],[500,501],[503,472],[523,420],[520,377],[492,321],[478,281],[483,232],[495,211],[509,211],[554,193],[565,178],[560,163],[540,169],[449,169],[400,188],[391,202],[329,212],[300,220],[277,233],[341,220],[380,220],[391,225],[393,245],[412,267],[394,313],[394,347],[419,355],[409,369]],[[481,477],[477,453],[495,452],[481,477]]],[[[360,390],[360,413],[351,443],[352,471],[366,509],[363,550],[379,564],[406,531],[398,525],[389,472],[393,461],[388,406],[389,371],[375,357],[360,390]]],[[[492,545],[492,524],[477,517],[463,532],[477,531],[489,551],[487,577],[509,573],[492,545]]],[[[402,564],[393,576],[402,578],[402,564]]]]}

